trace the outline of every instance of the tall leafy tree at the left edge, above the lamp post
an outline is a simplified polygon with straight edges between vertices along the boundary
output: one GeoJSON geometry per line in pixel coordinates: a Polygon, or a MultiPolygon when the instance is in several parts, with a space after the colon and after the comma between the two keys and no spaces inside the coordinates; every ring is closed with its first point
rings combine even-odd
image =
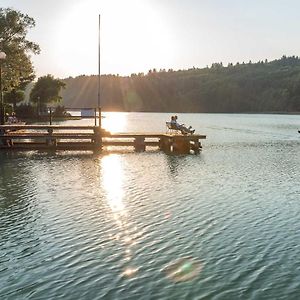
{"type": "Polygon", "coordinates": [[[3,67],[3,88],[10,92],[13,89],[24,90],[34,77],[30,54],[38,54],[37,44],[26,39],[34,20],[11,8],[0,8],[0,51],[6,53],[3,67]]]}

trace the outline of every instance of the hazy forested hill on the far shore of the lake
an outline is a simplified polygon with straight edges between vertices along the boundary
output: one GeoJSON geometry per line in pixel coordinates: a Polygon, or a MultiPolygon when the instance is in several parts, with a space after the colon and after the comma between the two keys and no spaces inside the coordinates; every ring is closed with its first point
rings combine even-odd
{"type": "MultiPolygon", "coordinates": [[[[63,79],[63,105],[97,106],[98,76],[63,79]]],[[[121,77],[101,76],[105,111],[299,112],[300,59],[237,63],[189,70],[150,70],[121,77]]]]}

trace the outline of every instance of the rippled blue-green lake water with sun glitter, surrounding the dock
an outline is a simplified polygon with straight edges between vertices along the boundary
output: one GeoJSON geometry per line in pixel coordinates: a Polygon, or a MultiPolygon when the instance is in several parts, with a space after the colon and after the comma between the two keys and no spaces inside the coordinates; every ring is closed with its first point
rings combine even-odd
{"type": "Polygon", "coordinates": [[[300,116],[178,116],[200,155],[0,153],[0,299],[300,299],[300,116]],[[185,257],[201,267],[175,282],[185,257]]]}

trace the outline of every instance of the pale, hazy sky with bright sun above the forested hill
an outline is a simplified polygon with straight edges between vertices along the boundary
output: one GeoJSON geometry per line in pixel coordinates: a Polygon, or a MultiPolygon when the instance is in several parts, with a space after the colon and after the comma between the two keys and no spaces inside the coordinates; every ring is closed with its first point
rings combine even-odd
{"type": "Polygon", "coordinates": [[[36,21],[37,76],[130,75],[300,55],[298,0],[1,0],[36,21]]]}

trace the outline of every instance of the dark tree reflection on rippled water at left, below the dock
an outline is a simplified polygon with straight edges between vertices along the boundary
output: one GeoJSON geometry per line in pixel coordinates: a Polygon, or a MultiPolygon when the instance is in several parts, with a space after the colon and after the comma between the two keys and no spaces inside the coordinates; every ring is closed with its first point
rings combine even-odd
{"type": "Polygon", "coordinates": [[[14,260],[39,250],[36,221],[40,213],[35,207],[36,181],[30,175],[30,161],[16,153],[1,153],[0,161],[0,264],[9,270],[14,260]]]}

